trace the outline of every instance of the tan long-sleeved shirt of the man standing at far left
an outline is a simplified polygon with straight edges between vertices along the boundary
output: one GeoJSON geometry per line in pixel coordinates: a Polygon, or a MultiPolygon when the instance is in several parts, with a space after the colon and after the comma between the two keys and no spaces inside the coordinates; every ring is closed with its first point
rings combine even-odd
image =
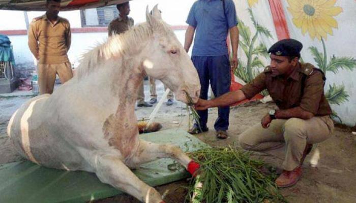
{"type": "Polygon", "coordinates": [[[71,28],[67,19],[58,17],[52,24],[47,15],[34,18],[28,28],[28,47],[40,64],[59,64],[69,61],[71,28]]]}

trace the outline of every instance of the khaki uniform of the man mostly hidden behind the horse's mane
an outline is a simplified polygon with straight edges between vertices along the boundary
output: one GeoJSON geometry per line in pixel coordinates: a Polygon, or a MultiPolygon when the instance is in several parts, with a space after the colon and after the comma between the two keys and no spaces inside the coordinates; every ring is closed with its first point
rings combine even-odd
{"type": "MultiPolygon", "coordinates": [[[[116,19],[112,20],[108,26],[109,37],[112,35],[118,35],[127,31],[130,27],[134,25],[134,20],[131,17],[127,17],[123,19],[121,16],[117,17],[116,19]]],[[[137,104],[144,103],[144,88],[143,88],[143,81],[138,88],[137,93],[137,104]]]]}

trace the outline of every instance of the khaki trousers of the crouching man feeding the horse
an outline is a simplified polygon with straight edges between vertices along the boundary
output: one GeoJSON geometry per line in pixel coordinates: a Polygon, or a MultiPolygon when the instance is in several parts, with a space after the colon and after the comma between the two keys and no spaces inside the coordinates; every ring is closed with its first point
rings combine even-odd
{"type": "Polygon", "coordinates": [[[275,119],[270,127],[255,124],[240,135],[242,148],[252,151],[273,150],[285,145],[283,169],[292,171],[301,164],[307,144],[320,143],[331,137],[334,123],[330,116],[315,116],[308,120],[299,118],[275,119]]]}

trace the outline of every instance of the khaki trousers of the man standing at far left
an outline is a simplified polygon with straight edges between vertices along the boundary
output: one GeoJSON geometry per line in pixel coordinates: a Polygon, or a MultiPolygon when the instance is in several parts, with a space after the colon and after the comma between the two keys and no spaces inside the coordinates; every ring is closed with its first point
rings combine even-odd
{"type": "Polygon", "coordinates": [[[53,92],[56,74],[58,74],[62,84],[73,78],[71,63],[38,64],[38,86],[40,94],[51,94],[53,92]]]}

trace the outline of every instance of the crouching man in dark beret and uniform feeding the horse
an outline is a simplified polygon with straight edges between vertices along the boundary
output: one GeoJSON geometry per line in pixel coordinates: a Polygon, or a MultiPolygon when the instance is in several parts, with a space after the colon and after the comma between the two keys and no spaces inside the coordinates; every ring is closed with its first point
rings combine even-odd
{"type": "Polygon", "coordinates": [[[251,83],[213,100],[199,99],[196,104],[198,110],[224,107],[268,89],[278,109],[243,132],[239,143],[253,151],[285,145],[284,170],[276,180],[279,187],[292,186],[302,177],[301,165],[312,144],[327,140],[334,130],[332,110],[324,95],[324,74],[310,63],[299,62],[302,47],[293,39],[277,42],[269,49],[271,65],[251,83]]]}

